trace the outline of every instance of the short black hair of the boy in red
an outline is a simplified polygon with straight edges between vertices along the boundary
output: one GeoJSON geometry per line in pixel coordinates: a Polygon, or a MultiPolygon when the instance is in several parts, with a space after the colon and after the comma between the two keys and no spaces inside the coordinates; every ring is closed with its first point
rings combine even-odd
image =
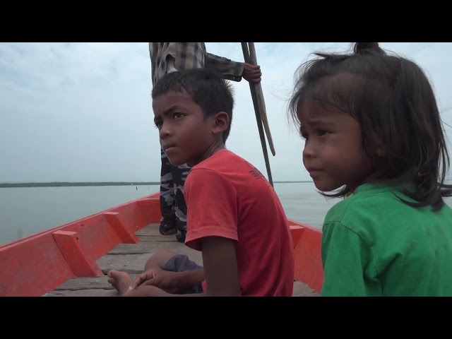
{"type": "Polygon", "coordinates": [[[152,98],[169,92],[187,93],[203,110],[204,117],[226,112],[229,126],[223,133],[223,142],[229,136],[232,124],[234,95],[230,83],[208,69],[187,69],[167,73],[155,83],[152,98]]]}

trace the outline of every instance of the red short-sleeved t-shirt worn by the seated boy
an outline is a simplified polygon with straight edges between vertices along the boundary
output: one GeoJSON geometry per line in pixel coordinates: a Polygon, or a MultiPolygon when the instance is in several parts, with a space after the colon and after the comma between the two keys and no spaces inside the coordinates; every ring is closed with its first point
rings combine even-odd
{"type": "Polygon", "coordinates": [[[203,237],[233,239],[242,296],[292,296],[290,228],[275,190],[256,167],[218,150],[192,167],[184,191],[187,246],[199,251],[203,237]]]}

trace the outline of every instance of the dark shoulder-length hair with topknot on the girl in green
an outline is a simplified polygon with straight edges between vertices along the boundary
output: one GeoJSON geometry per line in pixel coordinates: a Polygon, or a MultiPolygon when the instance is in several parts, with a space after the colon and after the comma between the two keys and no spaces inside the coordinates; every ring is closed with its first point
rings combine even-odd
{"type": "MultiPolygon", "coordinates": [[[[403,202],[439,210],[443,197],[452,196],[444,184],[449,157],[434,91],[420,66],[386,54],[377,42],[357,42],[351,54],[316,56],[299,69],[290,100],[295,124],[300,127],[297,109],[305,100],[342,109],[357,120],[364,151],[383,169],[377,179],[413,184],[403,193],[416,202],[403,202]]],[[[345,186],[323,195],[348,194],[345,186]]]]}

